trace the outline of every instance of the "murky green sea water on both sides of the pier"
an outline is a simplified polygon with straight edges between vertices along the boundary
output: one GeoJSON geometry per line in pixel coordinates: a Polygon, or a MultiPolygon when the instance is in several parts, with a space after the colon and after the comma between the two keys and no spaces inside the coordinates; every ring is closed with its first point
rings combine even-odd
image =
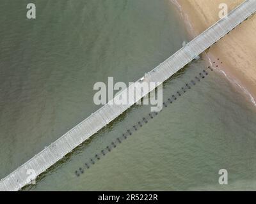
{"type": "MultiPolygon", "coordinates": [[[[96,82],[134,82],[188,40],[168,0],[37,0],[35,20],[28,3],[0,3],[1,178],[99,108],[96,82]]],[[[164,101],[207,66],[193,61],[170,78],[164,101]]],[[[90,169],[84,163],[150,107],[132,106],[24,190],[255,190],[255,107],[208,72],[90,169]]]]}

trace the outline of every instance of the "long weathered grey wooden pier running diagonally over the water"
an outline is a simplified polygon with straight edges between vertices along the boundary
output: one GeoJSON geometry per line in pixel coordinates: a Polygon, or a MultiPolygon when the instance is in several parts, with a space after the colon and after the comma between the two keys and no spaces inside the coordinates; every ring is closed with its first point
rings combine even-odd
{"type": "MultiPolygon", "coordinates": [[[[204,33],[198,35],[194,40],[190,41],[171,57],[166,59],[166,61],[148,72],[143,81],[163,83],[179,71],[179,69],[183,68],[186,64],[195,59],[196,56],[200,55],[216,41],[220,40],[225,36],[225,34],[229,33],[237,25],[241,24],[246,20],[246,18],[250,17],[255,13],[255,10],[256,0],[244,1],[242,4],[237,6],[236,9],[228,13],[227,17],[220,19],[214,25],[209,27],[209,29],[204,31],[204,33]]],[[[154,90],[156,86],[151,87],[148,92],[154,90]]],[[[140,90],[140,87],[141,81],[138,80],[120,94],[127,94],[130,89],[140,90]]],[[[148,92],[143,92],[140,97],[135,98],[134,103],[147,95],[148,92]]],[[[94,112],[92,115],[84,119],[65,135],[61,136],[58,140],[36,154],[29,161],[17,168],[17,170],[10,173],[10,175],[1,179],[0,191],[19,191],[19,189],[28,185],[31,180],[36,179],[38,175],[47,170],[85,140],[90,138],[90,136],[97,133],[97,131],[109,124],[109,122],[118,117],[118,115],[125,112],[127,108],[132,106],[132,104],[116,105],[115,101],[118,100],[119,96],[120,95],[116,96],[113,100],[109,101],[108,104],[97,110],[97,112],[94,112]],[[33,170],[33,172],[35,172],[33,177],[29,175],[29,170],[33,170]]]]}

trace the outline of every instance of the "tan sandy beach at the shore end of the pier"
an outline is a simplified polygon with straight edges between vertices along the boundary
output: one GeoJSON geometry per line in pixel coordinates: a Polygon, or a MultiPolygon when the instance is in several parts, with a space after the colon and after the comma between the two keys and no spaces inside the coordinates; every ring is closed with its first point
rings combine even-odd
{"type": "MultiPolygon", "coordinates": [[[[220,19],[221,3],[227,4],[228,12],[243,3],[243,0],[171,1],[179,9],[191,39],[220,19]]],[[[256,106],[255,30],[256,16],[253,15],[205,52],[204,57],[207,57],[211,63],[221,61],[222,64],[216,69],[225,75],[234,87],[243,91],[256,106]]]]}

